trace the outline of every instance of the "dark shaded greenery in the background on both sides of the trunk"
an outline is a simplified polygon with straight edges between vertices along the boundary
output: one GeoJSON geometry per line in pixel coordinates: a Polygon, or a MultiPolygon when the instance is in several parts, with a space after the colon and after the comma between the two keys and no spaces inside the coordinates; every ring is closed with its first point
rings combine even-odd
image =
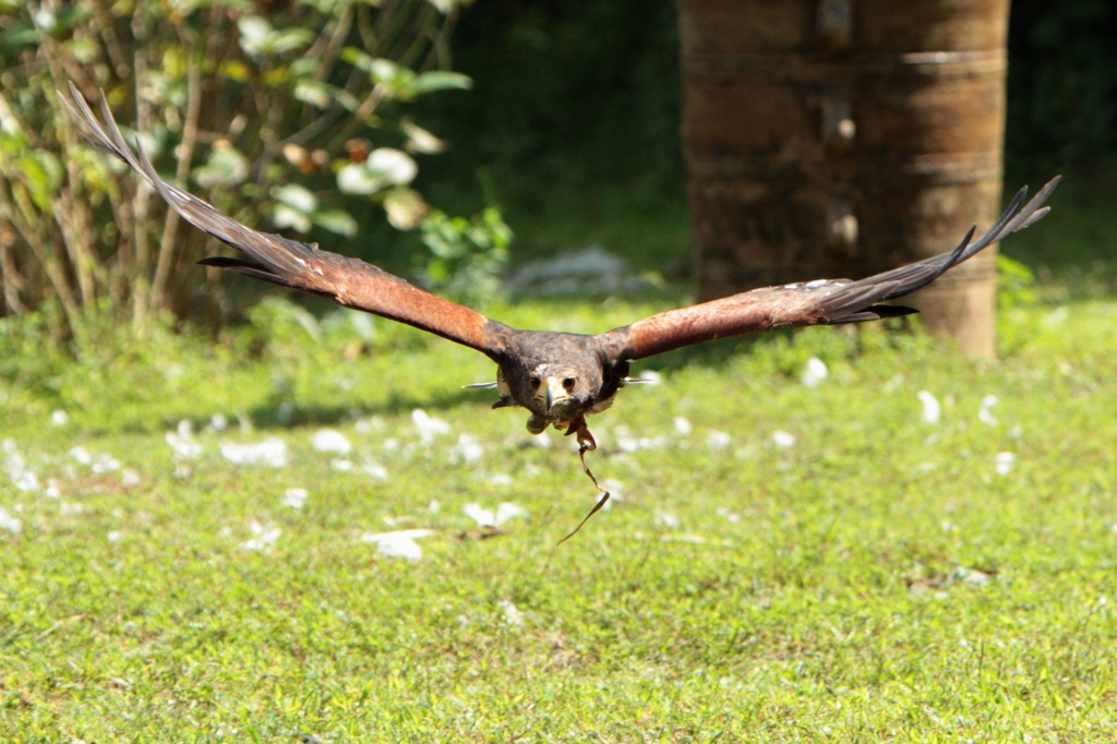
{"type": "MultiPolygon", "coordinates": [[[[462,194],[480,175],[516,228],[514,261],[600,241],[639,268],[685,267],[677,25],[671,0],[478,3],[455,32],[474,95],[420,104],[455,143],[423,188],[476,209],[462,194]]],[[[1114,191],[1115,39],[1106,0],[1012,3],[1010,191],[1056,172],[1063,201],[1114,191]]]]}

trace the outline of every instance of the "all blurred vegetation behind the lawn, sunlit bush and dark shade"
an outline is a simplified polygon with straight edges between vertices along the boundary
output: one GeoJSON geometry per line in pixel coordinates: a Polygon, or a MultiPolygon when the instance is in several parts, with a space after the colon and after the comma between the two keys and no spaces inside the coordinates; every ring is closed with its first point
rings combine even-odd
{"type": "MultiPolygon", "coordinates": [[[[506,259],[590,246],[653,277],[649,286],[686,290],[670,0],[7,1],[0,11],[2,313],[39,311],[57,340],[90,318],[217,327],[262,292],[230,292],[219,271],[190,268],[214,246],[84,145],[55,94],[68,79],[87,96],[104,88],[126,132],[150,133],[165,178],[238,219],[454,296],[484,304],[506,259]]],[[[1104,0],[1013,3],[1008,187],[1070,178],[1048,239],[1008,252],[1041,277],[1102,277],[1106,288],[1115,38],[1117,9],[1104,0]]]]}

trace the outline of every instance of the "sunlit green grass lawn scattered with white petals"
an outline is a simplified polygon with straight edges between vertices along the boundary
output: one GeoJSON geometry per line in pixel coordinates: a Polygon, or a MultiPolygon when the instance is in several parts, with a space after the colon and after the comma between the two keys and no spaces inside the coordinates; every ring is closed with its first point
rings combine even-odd
{"type": "Polygon", "coordinates": [[[598,494],[569,440],[459,389],[484,357],[261,313],[212,346],[153,332],[64,365],[30,334],[3,362],[3,741],[1117,736],[1117,302],[1002,313],[997,363],[863,327],[640,364],[661,383],[591,420],[620,498],[562,545],[598,494]],[[448,431],[424,442],[414,409],[448,431]],[[285,466],[222,455],[269,438],[285,466]],[[471,503],[527,516],[478,540],[471,503]],[[367,542],[412,528],[419,560],[367,542]]]}

